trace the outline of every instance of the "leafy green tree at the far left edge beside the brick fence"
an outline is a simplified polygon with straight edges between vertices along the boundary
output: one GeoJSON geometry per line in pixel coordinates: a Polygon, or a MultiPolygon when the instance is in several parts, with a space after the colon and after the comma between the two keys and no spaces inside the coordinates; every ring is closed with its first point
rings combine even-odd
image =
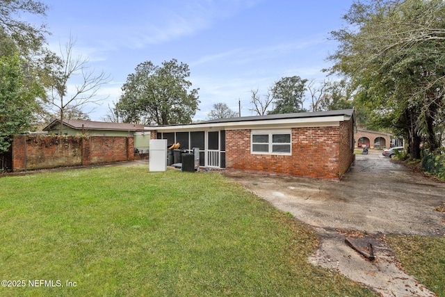
{"type": "Polygon", "coordinates": [[[41,86],[24,83],[18,54],[0,57],[0,153],[10,147],[10,136],[31,129],[35,97],[42,93],[41,86]]]}

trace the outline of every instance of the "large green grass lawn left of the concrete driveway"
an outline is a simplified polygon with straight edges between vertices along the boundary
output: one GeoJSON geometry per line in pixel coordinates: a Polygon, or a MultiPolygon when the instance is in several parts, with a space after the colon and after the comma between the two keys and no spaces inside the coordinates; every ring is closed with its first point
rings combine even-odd
{"type": "Polygon", "coordinates": [[[22,285],[0,296],[375,296],[309,264],[312,229],[218,173],[118,166],[0,188],[0,276],[22,285]]]}

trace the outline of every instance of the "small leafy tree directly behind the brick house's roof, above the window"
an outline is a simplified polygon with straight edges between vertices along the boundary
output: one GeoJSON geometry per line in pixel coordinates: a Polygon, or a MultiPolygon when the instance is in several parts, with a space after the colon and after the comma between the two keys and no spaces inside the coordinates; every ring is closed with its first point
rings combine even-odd
{"type": "Polygon", "coordinates": [[[298,76],[283,77],[275,82],[270,92],[275,108],[270,114],[275,113],[300,113],[306,111],[303,106],[305,102],[305,91],[307,79],[298,76]]]}

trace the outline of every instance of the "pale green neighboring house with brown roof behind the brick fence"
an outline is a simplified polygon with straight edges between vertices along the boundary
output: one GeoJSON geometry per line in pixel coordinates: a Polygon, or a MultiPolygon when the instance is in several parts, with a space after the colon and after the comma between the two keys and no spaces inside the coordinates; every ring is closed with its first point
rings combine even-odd
{"type": "MultiPolygon", "coordinates": [[[[43,131],[58,135],[60,120],[53,120],[47,127],[43,128],[43,131]]],[[[92,120],[63,120],[62,131],[63,135],[67,136],[134,136],[134,147],[139,151],[147,150],[147,152],[149,148],[149,134],[145,135],[144,125],[92,120]]]]}

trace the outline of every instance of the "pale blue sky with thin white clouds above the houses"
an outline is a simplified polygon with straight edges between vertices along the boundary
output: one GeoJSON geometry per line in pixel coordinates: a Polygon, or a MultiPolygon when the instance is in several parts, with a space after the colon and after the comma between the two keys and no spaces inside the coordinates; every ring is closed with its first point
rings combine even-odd
{"type": "MultiPolygon", "coordinates": [[[[329,32],[341,28],[353,0],[42,0],[51,7],[44,19],[58,51],[70,34],[75,51],[90,58],[112,81],[108,96],[90,113],[102,120],[108,103],[117,102],[123,83],[144,61],[161,65],[176,58],[188,64],[193,88],[200,88],[200,111],[207,119],[213,104],[225,102],[241,115],[249,110],[250,91],[265,94],[282,77],[322,81],[325,61],[336,49],[329,32]]],[[[309,104],[309,102],[307,102],[309,104]]],[[[309,106],[309,105],[308,105],[309,106]]],[[[94,106],[87,106],[90,111],[94,106]]]]}

